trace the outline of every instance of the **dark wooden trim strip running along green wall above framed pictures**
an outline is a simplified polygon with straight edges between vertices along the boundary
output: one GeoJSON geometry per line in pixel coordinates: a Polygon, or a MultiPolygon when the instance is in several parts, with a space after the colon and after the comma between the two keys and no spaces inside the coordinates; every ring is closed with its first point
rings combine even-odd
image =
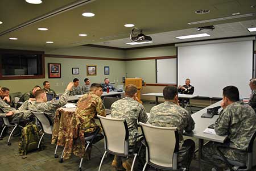
{"type": "Polygon", "coordinates": [[[45,57],[69,58],[69,59],[89,59],[89,60],[113,60],[113,61],[138,61],[138,60],[155,60],[155,59],[173,59],[177,56],[158,56],[158,57],[141,57],[132,59],[118,59],[110,57],[90,57],[90,56],[69,56],[69,55],[53,55],[45,54],[45,57]]]}

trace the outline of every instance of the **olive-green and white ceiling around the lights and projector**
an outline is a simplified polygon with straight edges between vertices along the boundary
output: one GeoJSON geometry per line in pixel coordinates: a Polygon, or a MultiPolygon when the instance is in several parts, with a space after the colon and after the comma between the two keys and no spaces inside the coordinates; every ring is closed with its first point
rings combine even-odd
{"type": "Polygon", "coordinates": [[[177,43],[193,40],[217,39],[256,35],[246,28],[256,27],[256,5],[251,0],[202,1],[202,0],[43,0],[32,5],[24,0],[0,1],[0,48],[41,49],[43,51],[79,45],[96,44],[119,48],[134,48],[145,45],[177,43]],[[74,4],[80,3],[77,7],[74,4]],[[84,4],[82,4],[84,3],[84,4]],[[72,8],[67,8],[72,7],[72,8]],[[60,9],[68,9],[57,12],[60,9]],[[208,14],[195,14],[196,10],[208,9],[208,14]],[[86,18],[83,12],[95,16],[86,18]],[[189,25],[189,22],[233,16],[233,13],[254,14],[244,18],[221,20],[189,25]],[[44,18],[44,16],[48,16],[44,18]],[[39,19],[39,18],[42,19],[39,19]],[[35,19],[36,22],[31,22],[35,19]],[[31,22],[31,23],[30,23],[31,22]],[[30,23],[30,24],[27,24],[30,23]],[[131,28],[124,24],[133,23],[143,34],[150,35],[153,43],[127,45],[131,28]],[[214,25],[215,29],[196,31],[196,27],[214,25]],[[46,27],[48,31],[37,28],[46,27]],[[204,33],[210,37],[176,39],[176,36],[204,33]],[[79,34],[87,34],[81,37],[79,34]],[[9,40],[17,37],[18,40],[9,40]],[[53,44],[46,44],[53,41],[53,44]]]}

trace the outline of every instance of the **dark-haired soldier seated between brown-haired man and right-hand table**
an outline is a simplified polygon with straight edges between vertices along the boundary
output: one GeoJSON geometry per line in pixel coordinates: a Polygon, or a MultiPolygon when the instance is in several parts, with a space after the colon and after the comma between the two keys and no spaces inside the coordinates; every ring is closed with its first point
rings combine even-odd
{"type": "Polygon", "coordinates": [[[195,122],[188,111],[179,106],[177,93],[177,87],[175,86],[164,87],[164,103],[152,107],[148,122],[158,127],[177,127],[179,149],[188,149],[184,153],[179,153],[179,165],[189,169],[192,157],[195,154],[195,142],[191,139],[184,141],[183,131],[191,132],[195,128],[195,122]]]}

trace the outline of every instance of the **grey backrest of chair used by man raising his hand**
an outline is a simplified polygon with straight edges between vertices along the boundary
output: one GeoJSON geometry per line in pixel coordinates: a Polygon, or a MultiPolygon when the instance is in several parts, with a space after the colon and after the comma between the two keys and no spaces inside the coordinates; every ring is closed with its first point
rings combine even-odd
{"type": "Polygon", "coordinates": [[[47,118],[46,114],[44,112],[31,112],[38,119],[43,132],[46,134],[52,134],[51,121],[49,120],[49,118],[47,118]]]}

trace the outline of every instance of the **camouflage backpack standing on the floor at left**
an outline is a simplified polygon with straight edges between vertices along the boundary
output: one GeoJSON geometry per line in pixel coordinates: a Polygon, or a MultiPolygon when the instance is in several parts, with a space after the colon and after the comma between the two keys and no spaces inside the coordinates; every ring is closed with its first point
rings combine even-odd
{"type": "Polygon", "coordinates": [[[36,151],[38,149],[40,135],[38,127],[31,123],[28,123],[22,130],[22,135],[19,141],[19,153],[20,155],[27,155],[28,152],[36,151]]]}

